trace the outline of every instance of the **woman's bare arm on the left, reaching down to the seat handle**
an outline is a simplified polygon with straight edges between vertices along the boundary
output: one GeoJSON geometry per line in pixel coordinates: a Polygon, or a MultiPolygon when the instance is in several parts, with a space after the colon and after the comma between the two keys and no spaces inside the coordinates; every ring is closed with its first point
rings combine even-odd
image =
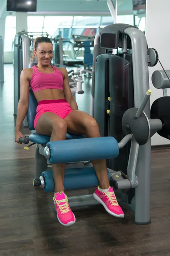
{"type": "Polygon", "coordinates": [[[17,107],[17,121],[15,126],[15,132],[19,132],[29,104],[29,75],[30,70],[22,70],[20,75],[20,100],[17,107]]]}

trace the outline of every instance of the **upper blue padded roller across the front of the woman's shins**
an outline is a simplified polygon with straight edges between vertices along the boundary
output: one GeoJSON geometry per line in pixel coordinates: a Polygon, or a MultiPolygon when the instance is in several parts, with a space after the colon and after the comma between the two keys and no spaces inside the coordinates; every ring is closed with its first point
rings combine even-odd
{"type": "Polygon", "coordinates": [[[119,154],[119,145],[113,137],[50,141],[47,147],[50,163],[109,159],[119,154]]]}

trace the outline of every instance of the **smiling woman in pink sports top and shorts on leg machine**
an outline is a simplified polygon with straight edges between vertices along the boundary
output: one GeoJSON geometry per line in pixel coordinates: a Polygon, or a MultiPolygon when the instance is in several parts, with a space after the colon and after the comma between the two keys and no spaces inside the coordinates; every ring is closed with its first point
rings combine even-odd
{"type": "MultiPolygon", "coordinates": [[[[47,37],[39,37],[34,41],[34,52],[31,61],[37,58],[37,65],[24,69],[20,75],[20,101],[17,108],[15,141],[23,137],[21,125],[28,109],[29,87],[37,99],[37,115],[34,128],[38,134],[51,136],[51,140],[65,140],[66,132],[85,134],[86,137],[101,137],[95,119],[83,111],[79,111],[72,96],[68,72],[65,68],[51,65],[53,44],[47,37]]],[[[111,215],[123,218],[124,213],[116,201],[110,187],[105,160],[92,161],[99,186],[94,198],[99,201],[111,215]]],[[[54,203],[59,222],[65,226],[74,224],[75,216],[64,193],[65,164],[53,164],[55,183],[54,203]]]]}

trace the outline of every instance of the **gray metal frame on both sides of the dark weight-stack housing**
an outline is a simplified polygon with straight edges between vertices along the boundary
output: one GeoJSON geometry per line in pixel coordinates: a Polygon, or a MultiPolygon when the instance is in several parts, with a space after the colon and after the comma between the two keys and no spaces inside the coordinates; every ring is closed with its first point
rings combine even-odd
{"type": "MultiPolygon", "coordinates": [[[[112,33],[112,31],[111,31],[112,33]]],[[[142,100],[149,90],[149,72],[147,60],[147,41],[144,33],[134,27],[128,27],[124,30],[125,35],[128,35],[132,44],[133,52],[133,84],[134,84],[134,102],[135,107],[139,108],[142,100]]],[[[126,37],[123,41],[125,44],[126,37]]],[[[94,85],[95,85],[95,63],[96,57],[105,53],[105,49],[100,48],[100,34],[98,33],[94,40],[94,61],[93,61],[93,78],[92,78],[92,93],[91,93],[91,115],[94,116],[94,85]]],[[[150,102],[148,101],[144,113],[150,119],[150,102]]],[[[149,121],[149,120],[148,120],[149,121]]],[[[151,143],[150,138],[143,146],[137,145],[134,141],[131,147],[128,176],[139,184],[136,187],[135,193],[135,222],[141,224],[150,223],[150,173],[151,173],[151,143]],[[139,151],[139,152],[138,152],[139,151]],[[138,152],[138,154],[137,154],[138,152]],[[137,156],[138,155],[138,156],[137,156]],[[133,157],[134,156],[134,157],[133,157]],[[136,166],[136,175],[132,170],[136,166]]]]}

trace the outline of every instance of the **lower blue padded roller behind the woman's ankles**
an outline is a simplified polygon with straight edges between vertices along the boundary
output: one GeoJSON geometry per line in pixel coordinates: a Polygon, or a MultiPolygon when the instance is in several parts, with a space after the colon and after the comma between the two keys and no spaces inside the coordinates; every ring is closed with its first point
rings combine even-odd
{"type": "MultiPolygon", "coordinates": [[[[45,180],[46,192],[54,192],[54,179],[53,172],[45,171],[42,172],[42,176],[45,180]]],[[[110,175],[108,172],[108,178],[110,181],[110,175]]],[[[65,190],[74,190],[74,189],[89,189],[99,185],[96,173],[93,167],[82,167],[82,168],[73,168],[65,169],[64,177],[64,187],[65,190]]]]}

